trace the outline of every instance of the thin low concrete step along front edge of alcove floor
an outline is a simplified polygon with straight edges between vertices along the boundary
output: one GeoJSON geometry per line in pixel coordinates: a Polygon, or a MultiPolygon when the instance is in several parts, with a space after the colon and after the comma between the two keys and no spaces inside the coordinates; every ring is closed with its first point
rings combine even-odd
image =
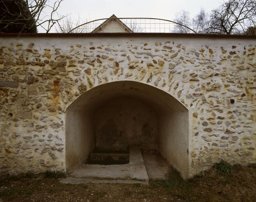
{"type": "Polygon", "coordinates": [[[66,178],[61,179],[61,183],[64,184],[87,184],[87,183],[120,183],[120,184],[142,184],[149,185],[148,182],[138,181],[138,180],[93,180],[93,179],[82,179],[82,178],[66,178]]]}

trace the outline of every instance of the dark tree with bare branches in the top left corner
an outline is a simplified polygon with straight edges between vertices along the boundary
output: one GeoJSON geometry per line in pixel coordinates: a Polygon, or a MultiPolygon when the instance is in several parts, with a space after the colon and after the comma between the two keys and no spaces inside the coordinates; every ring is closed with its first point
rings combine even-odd
{"type": "Polygon", "coordinates": [[[20,33],[37,27],[42,27],[48,33],[56,22],[64,18],[59,15],[54,17],[62,1],[56,0],[50,5],[48,0],[0,0],[0,31],[7,32],[11,26],[19,25],[20,33]],[[18,12],[12,12],[13,6],[18,8],[18,12]],[[51,10],[49,15],[46,14],[48,9],[51,10]]]}

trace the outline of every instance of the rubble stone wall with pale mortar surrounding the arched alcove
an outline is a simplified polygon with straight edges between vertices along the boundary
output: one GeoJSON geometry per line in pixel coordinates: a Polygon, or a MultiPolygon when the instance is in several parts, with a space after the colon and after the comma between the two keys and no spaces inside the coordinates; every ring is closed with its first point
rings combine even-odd
{"type": "Polygon", "coordinates": [[[122,80],[159,88],[188,109],[187,177],[220,158],[256,162],[255,37],[39,34],[0,41],[1,174],[65,170],[67,107],[122,80]]]}

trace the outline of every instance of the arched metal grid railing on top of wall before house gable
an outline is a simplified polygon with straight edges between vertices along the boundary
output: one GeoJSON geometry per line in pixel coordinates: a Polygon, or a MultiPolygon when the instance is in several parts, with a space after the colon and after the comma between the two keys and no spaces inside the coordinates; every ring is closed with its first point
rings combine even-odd
{"type": "Polygon", "coordinates": [[[83,31],[86,33],[121,32],[120,30],[122,28],[125,28],[129,32],[141,33],[197,33],[186,25],[177,23],[175,21],[150,17],[101,18],[80,24],[67,33],[70,33],[75,29],[83,29],[83,31]],[[101,25],[104,26],[104,29],[101,29],[101,25]]]}

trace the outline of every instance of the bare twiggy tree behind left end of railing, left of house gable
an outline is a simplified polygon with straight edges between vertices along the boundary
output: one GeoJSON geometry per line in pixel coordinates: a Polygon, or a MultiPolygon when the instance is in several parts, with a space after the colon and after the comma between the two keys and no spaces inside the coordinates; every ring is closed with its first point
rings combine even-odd
{"type": "Polygon", "coordinates": [[[80,15],[78,17],[66,16],[63,20],[58,22],[58,27],[56,27],[57,33],[88,33],[94,30],[97,25],[86,22],[90,21],[87,18],[83,18],[80,15]],[[81,25],[81,26],[79,26],[81,25]]]}

